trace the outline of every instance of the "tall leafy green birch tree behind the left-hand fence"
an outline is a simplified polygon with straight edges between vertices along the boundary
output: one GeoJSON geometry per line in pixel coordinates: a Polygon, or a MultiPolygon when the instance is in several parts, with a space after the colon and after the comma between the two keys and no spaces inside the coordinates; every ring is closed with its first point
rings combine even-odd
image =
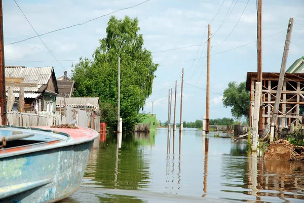
{"type": "MultiPolygon", "coordinates": [[[[106,37],[99,40],[100,46],[93,54],[93,61],[80,58],[73,65],[76,97],[99,97],[101,120],[111,130],[117,126],[113,113],[118,97],[118,57],[121,57],[121,109],[124,131],[132,131],[142,119],[146,98],[152,93],[153,79],[158,64],[153,63],[151,52],[143,48],[143,36],[138,31],[137,18],[108,21],[106,37]],[[105,108],[105,109],[103,109],[105,108]]],[[[117,112],[117,111],[116,111],[117,112]]]]}

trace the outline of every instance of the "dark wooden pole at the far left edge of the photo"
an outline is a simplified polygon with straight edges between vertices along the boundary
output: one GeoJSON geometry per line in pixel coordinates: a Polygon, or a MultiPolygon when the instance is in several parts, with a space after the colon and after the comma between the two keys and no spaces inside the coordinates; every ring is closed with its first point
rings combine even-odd
{"type": "Polygon", "coordinates": [[[7,105],[6,105],[6,89],[5,89],[2,0],[0,0],[0,108],[1,108],[2,125],[6,125],[7,105]]]}

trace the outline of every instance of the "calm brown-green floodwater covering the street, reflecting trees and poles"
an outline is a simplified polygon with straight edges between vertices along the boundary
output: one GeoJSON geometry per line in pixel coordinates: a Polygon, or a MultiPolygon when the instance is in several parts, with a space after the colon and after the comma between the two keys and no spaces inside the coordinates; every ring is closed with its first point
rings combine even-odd
{"type": "Polygon", "coordinates": [[[264,161],[248,155],[245,139],[201,135],[156,129],[120,144],[107,135],[80,189],[60,203],[304,202],[304,163],[264,161]]]}

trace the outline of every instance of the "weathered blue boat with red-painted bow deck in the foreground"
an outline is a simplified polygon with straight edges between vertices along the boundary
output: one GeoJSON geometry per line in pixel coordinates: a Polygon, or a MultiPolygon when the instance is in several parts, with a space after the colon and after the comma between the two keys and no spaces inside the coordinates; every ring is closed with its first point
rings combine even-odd
{"type": "Polygon", "coordinates": [[[81,185],[98,132],[0,126],[0,202],[56,202],[81,185]]]}

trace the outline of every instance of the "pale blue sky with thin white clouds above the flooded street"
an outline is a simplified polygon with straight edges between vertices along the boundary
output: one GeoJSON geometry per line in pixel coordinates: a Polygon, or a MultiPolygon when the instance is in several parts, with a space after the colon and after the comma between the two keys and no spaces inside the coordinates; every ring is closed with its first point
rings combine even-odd
{"type": "MultiPolygon", "coordinates": [[[[37,33],[84,23],[145,0],[16,0],[37,33]]],[[[286,69],[304,55],[304,1],[268,0],[262,4],[262,70],[280,72],[289,18],[294,19],[286,69]]],[[[160,66],[155,72],[153,93],[143,112],[162,122],[168,120],[168,90],[177,80],[176,120],[179,123],[181,70],[184,68],[182,120],[201,119],[206,112],[207,26],[211,26],[210,118],[232,117],[222,104],[229,82],[246,81],[257,71],[255,0],[149,0],[111,15],[139,20],[144,47],[160,66]],[[251,43],[251,44],[249,44],[251,43]],[[183,48],[186,47],[186,48],[183,48]],[[178,49],[182,48],[182,49],[178,49]],[[173,50],[172,50],[173,49],[173,50]],[[195,87],[194,87],[195,86],[195,87]],[[152,103],[154,101],[154,103],[152,103]]],[[[5,65],[53,66],[56,77],[68,71],[80,57],[92,58],[105,37],[110,15],[84,25],[36,36],[14,1],[3,0],[5,65]],[[15,43],[15,44],[11,44],[15,43]],[[49,52],[51,51],[51,53],[49,52]],[[57,62],[58,60],[59,62],[57,62]]],[[[172,117],[173,120],[173,107],[172,117]]]]}

